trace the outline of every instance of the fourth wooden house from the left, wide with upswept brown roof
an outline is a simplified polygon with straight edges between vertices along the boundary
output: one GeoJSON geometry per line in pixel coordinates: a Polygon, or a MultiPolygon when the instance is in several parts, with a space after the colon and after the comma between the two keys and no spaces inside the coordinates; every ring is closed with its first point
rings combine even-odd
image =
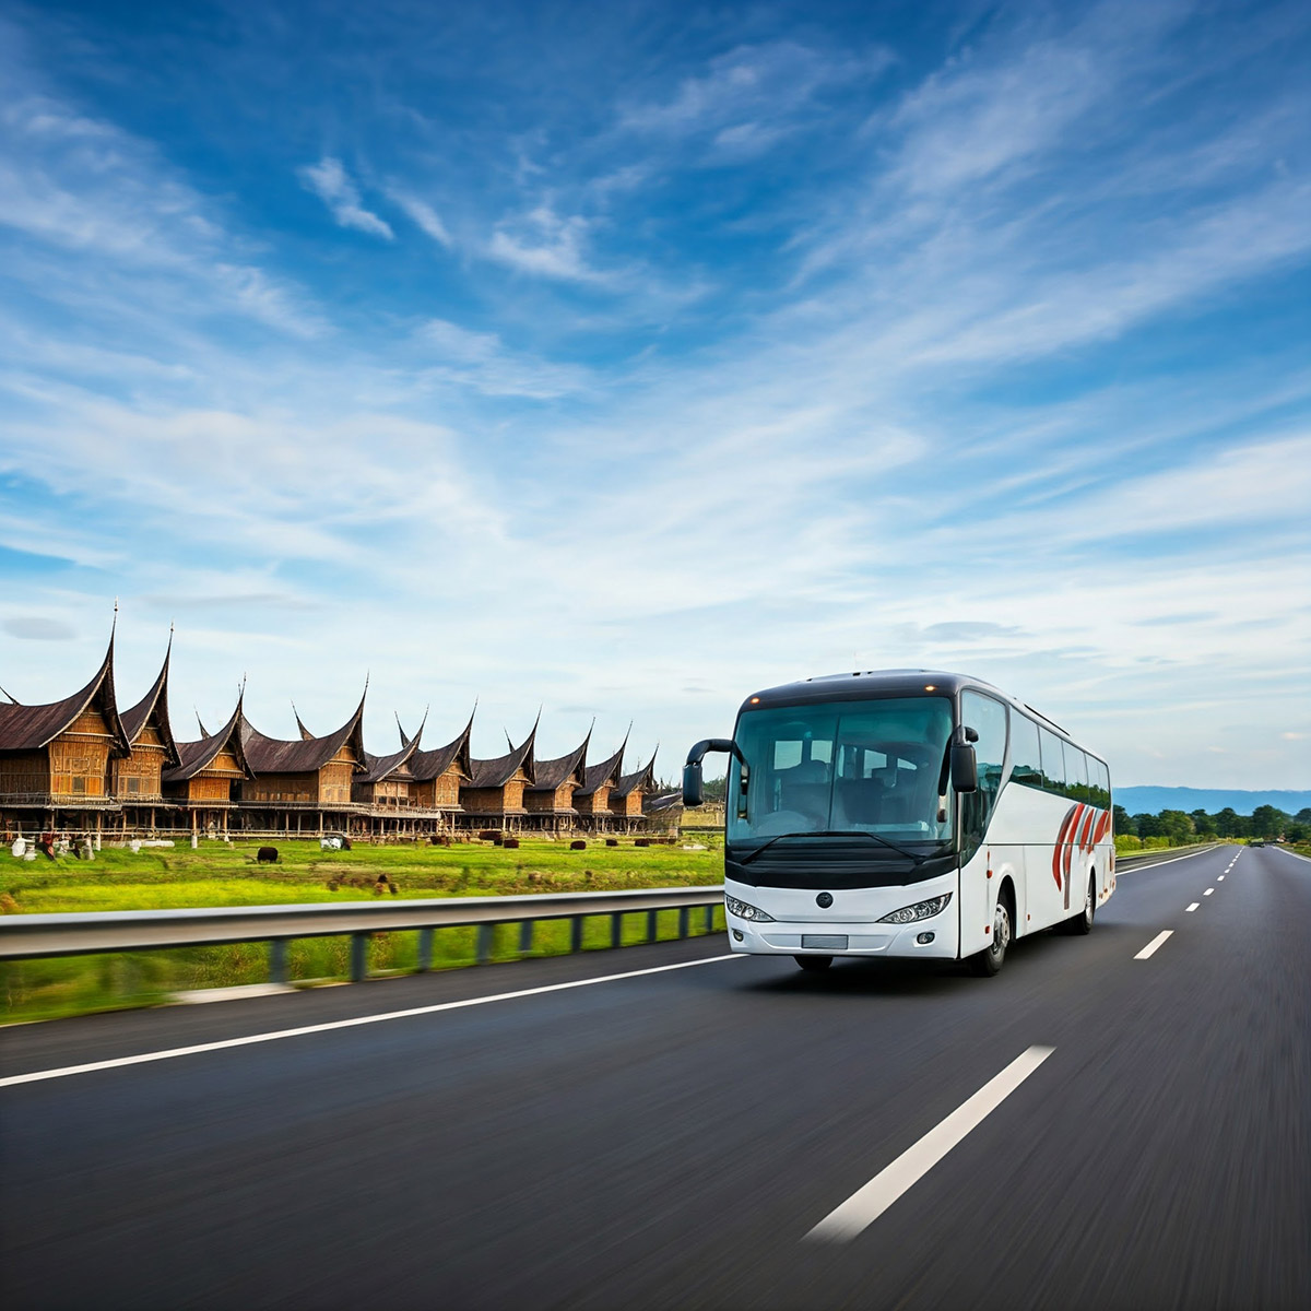
{"type": "MultiPolygon", "coordinates": [[[[325,827],[346,829],[355,810],[351,784],[355,775],[367,771],[363,718],[362,696],[355,713],[336,733],[288,742],[266,737],[243,714],[241,746],[254,775],[241,784],[243,827],[320,834],[325,827]]],[[[304,734],[304,725],[300,728],[304,734]]]]}

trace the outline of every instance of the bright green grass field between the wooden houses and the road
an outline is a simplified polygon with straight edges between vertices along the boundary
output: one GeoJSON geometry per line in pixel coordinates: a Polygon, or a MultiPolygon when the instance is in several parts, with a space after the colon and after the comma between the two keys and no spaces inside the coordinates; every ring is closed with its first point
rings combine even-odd
{"type": "MultiPolygon", "coordinates": [[[[607,891],[621,888],[675,888],[717,884],[724,876],[722,846],[713,835],[697,834],[682,846],[635,847],[631,838],[606,847],[594,840],[585,851],[569,843],[523,839],[517,851],[490,843],[433,847],[418,843],[357,844],[351,851],[325,852],[315,842],[278,842],[278,865],[257,865],[262,843],[202,842],[198,851],[147,847],[101,851],[93,863],[72,857],[50,861],[14,860],[0,853],[0,911],[55,914],[110,910],[164,910],[190,906],[271,906],[288,902],[372,901],[376,897],[490,897],[511,893],[607,891]],[[396,891],[376,891],[380,874],[396,891]]],[[[694,931],[704,926],[692,915],[694,931]]],[[[722,909],[716,911],[722,928],[722,909]]],[[[645,940],[646,916],[629,915],[624,943],[645,940]]],[[[658,916],[661,939],[678,935],[678,912],[658,916]]],[[[475,961],[473,928],[440,929],[433,965],[450,969],[475,961]]],[[[517,960],[518,926],[496,929],[493,960],[517,960]]],[[[610,945],[610,920],[599,916],[583,928],[583,948],[610,945]]],[[[538,924],[531,956],[568,952],[569,926],[538,924]]],[[[290,944],[292,982],[329,982],[347,974],[349,940],[299,939],[290,944]]],[[[370,943],[374,973],[413,970],[418,964],[418,935],[378,933],[370,943]]],[[[191,988],[262,983],[269,977],[267,944],[187,948],[20,961],[0,966],[0,1023],[43,1020],[123,1007],[159,1004],[173,992],[191,988]]]]}

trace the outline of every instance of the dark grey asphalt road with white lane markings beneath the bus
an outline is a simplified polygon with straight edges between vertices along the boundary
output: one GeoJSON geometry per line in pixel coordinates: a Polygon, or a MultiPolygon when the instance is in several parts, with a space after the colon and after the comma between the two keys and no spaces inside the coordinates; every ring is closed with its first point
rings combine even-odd
{"type": "Polygon", "coordinates": [[[724,949],[8,1030],[12,1078],[324,1025],[0,1080],[4,1304],[1311,1307],[1311,861],[1126,872],[995,979],[724,949]]]}

